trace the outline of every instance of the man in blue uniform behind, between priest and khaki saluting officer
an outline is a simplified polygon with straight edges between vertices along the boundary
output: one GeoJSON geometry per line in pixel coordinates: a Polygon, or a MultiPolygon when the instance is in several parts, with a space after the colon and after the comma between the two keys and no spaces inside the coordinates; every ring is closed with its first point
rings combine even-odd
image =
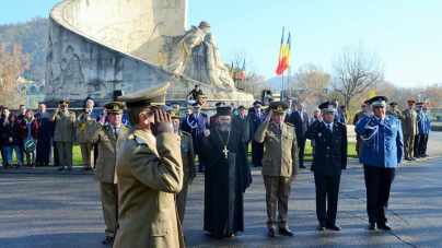
{"type": "MultiPolygon", "coordinates": [[[[263,103],[256,101],[253,104],[255,111],[249,114],[253,123],[254,133],[252,137],[255,137],[255,132],[258,130],[263,121],[267,118],[267,114],[263,113],[263,103]]],[[[252,163],[255,167],[263,167],[263,157],[264,157],[264,143],[258,143],[253,139],[252,142],[252,163]]]]}

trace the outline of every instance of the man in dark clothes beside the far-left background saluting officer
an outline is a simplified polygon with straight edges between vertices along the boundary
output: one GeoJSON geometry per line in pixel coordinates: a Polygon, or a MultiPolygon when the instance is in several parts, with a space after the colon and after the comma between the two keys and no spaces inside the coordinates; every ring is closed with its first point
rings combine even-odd
{"type": "Polygon", "coordinates": [[[35,163],[49,164],[50,156],[50,133],[55,129],[55,123],[49,122],[49,113],[37,113],[34,118],[38,121],[37,156],[35,163]]]}

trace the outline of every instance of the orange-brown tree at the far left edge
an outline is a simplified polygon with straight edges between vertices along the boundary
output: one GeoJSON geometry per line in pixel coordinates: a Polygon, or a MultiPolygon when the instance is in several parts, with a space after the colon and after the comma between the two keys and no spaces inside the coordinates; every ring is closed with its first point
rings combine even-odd
{"type": "Polygon", "coordinates": [[[7,106],[22,104],[18,78],[30,69],[30,56],[22,54],[22,47],[15,45],[12,52],[7,45],[0,45],[0,103],[7,106]]]}

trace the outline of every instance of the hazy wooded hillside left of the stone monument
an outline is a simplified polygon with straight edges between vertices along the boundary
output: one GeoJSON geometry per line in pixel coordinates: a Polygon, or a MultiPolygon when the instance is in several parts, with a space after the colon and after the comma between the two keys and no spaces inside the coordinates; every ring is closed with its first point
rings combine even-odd
{"type": "Polygon", "coordinates": [[[24,73],[33,81],[45,79],[48,19],[34,17],[30,22],[0,25],[0,43],[10,48],[21,45],[23,52],[30,55],[31,67],[24,73]]]}

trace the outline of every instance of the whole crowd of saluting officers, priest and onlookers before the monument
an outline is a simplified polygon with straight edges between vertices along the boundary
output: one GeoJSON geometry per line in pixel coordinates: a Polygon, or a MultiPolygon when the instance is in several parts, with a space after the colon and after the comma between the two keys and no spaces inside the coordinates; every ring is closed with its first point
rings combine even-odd
{"type": "MultiPolygon", "coordinates": [[[[318,231],[341,229],[336,216],[348,156],[345,105],[325,102],[310,117],[304,104],[292,107],[291,98],[271,98],[266,108],[256,101],[248,109],[220,102],[217,114],[208,117],[196,101],[182,115],[179,104],[165,104],[168,86],[160,84],[119,96],[106,103],[103,111],[88,99],[78,118],[66,99],[51,115],[44,103],[35,115],[24,105],[19,115],[2,107],[3,166],[12,166],[13,152],[16,167],[24,155],[26,168],[48,165],[54,142],[58,170],[66,165],[72,170],[72,142],[78,135],[83,169],[94,170],[94,179],[100,181],[106,224],[103,244],[184,247],[181,224],[197,167],[205,176],[203,229],[219,238],[244,232],[244,193],[253,182],[249,145],[252,164],[261,167],[266,188],[268,236],[276,237],[277,229],[293,236],[288,201],[299,169],[306,168],[304,150],[310,140],[318,231]]],[[[365,101],[353,118],[370,229],[392,229],[386,216],[389,190],[404,156],[409,161],[428,156],[430,118],[422,103],[416,110],[415,104],[409,101],[408,108],[400,111],[391,103],[387,111],[387,98],[376,96],[365,101]]]]}

